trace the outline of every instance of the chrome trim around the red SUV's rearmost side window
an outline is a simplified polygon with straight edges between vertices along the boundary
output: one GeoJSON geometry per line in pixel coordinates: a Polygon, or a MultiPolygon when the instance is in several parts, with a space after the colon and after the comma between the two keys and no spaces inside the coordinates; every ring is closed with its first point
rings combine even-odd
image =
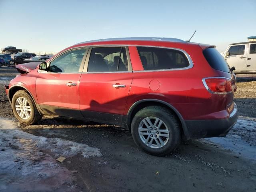
{"type": "MultiPolygon", "coordinates": [[[[170,48],[170,47],[164,47],[164,46],[141,46],[141,45],[135,45],[136,48],[137,47],[154,47],[154,48],[165,48],[165,49],[171,49],[171,50],[178,50],[178,51],[181,51],[182,53],[185,54],[186,58],[188,59],[188,66],[187,67],[181,67],[181,68],[173,68],[173,69],[152,69],[152,70],[144,70],[144,67],[143,67],[143,70],[139,70],[139,71],[133,71],[133,72],[158,72],[158,71],[177,71],[177,70],[186,70],[186,69],[190,69],[192,67],[194,67],[194,63],[190,57],[190,55],[183,49],[180,49],[180,48],[170,48]]],[[[138,51],[138,49],[137,49],[138,51]]],[[[138,55],[140,57],[140,54],[138,52],[138,55]]]]}

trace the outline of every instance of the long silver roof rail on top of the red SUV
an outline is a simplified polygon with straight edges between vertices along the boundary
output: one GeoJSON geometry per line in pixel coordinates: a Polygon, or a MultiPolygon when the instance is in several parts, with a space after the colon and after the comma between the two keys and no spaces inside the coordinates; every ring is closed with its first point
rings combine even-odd
{"type": "Polygon", "coordinates": [[[166,37],[124,37],[124,38],[109,38],[109,39],[98,39],[98,40],[92,40],[92,41],[84,41],[77,43],[83,44],[83,43],[93,43],[93,42],[100,42],[100,41],[127,41],[127,40],[136,40],[136,41],[167,41],[167,42],[180,42],[180,43],[186,43],[186,41],[176,38],[166,38],[166,37]]]}

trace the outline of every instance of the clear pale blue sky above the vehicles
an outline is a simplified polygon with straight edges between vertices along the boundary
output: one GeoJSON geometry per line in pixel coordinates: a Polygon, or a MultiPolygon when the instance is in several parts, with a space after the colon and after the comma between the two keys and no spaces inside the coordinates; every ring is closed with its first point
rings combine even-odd
{"type": "Polygon", "coordinates": [[[78,42],[173,37],[222,52],[256,36],[256,0],[0,0],[0,48],[59,52],[78,42]]]}

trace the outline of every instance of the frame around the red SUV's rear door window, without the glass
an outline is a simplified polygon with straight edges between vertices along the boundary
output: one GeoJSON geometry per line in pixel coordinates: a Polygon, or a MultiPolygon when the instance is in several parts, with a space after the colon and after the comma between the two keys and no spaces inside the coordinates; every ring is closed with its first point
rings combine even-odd
{"type": "Polygon", "coordinates": [[[128,73],[128,72],[132,72],[132,64],[130,61],[130,54],[129,54],[129,50],[128,50],[128,46],[127,45],[93,45],[90,46],[89,50],[88,50],[88,54],[86,56],[86,60],[85,60],[85,64],[84,64],[84,70],[82,73],[128,73]],[[125,48],[126,51],[126,57],[127,57],[127,62],[128,62],[128,71],[106,71],[106,72],[88,72],[88,64],[89,64],[89,59],[90,59],[90,55],[92,52],[92,48],[98,48],[98,47],[118,47],[118,48],[125,48]]]}

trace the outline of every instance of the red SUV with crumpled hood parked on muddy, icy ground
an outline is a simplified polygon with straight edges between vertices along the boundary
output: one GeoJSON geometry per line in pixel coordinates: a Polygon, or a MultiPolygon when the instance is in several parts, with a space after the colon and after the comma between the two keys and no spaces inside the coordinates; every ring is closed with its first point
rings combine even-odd
{"type": "Polygon", "coordinates": [[[182,137],[225,136],[237,120],[236,77],[211,45],[102,39],[16,68],[6,93],[20,122],[57,114],[114,124],[150,154],[170,153],[182,137]]]}

